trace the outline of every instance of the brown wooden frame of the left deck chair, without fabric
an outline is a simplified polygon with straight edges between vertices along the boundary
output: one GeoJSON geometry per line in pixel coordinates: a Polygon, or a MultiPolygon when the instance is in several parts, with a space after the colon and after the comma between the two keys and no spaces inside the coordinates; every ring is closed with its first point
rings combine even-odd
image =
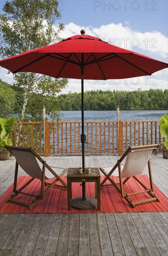
{"type": "MultiPolygon", "coordinates": [[[[22,190],[25,189],[25,187],[27,185],[29,185],[35,178],[31,177],[31,179],[26,182],[21,188],[17,189],[17,179],[18,179],[18,167],[19,167],[19,162],[16,160],[16,165],[15,165],[15,175],[14,175],[14,184],[13,184],[13,193],[10,198],[8,198],[6,200],[6,202],[14,202],[14,203],[19,203],[21,205],[24,205],[26,207],[28,207],[29,209],[31,209],[32,207],[34,207],[37,202],[40,199],[43,199],[44,195],[47,193],[47,191],[49,189],[51,189],[52,187],[57,187],[57,188],[62,188],[62,189],[67,189],[67,184],[61,179],[63,175],[65,175],[65,173],[68,171],[68,168],[64,169],[64,171],[62,172],[61,175],[57,175],[56,172],[39,156],[37,155],[37,153],[32,149],[32,148],[23,148],[23,147],[15,147],[15,146],[5,146],[7,150],[9,150],[10,152],[14,149],[14,150],[19,150],[19,151],[28,151],[31,152],[42,164],[43,164],[43,168],[42,168],[42,172],[41,172],[41,189],[40,189],[40,193],[38,195],[33,195],[33,194],[29,194],[29,193],[25,193],[22,190]],[[52,182],[45,182],[45,170],[46,168],[56,177],[56,179],[52,182]],[[56,182],[60,181],[62,183],[62,185],[57,185],[56,182]],[[46,189],[44,189],[44,186],[47,186],[46,189]],[[24,194],[24,195],[29,195],[32,197],[35,197],[35,199],[31,202],[31,203],[26,203],[23,201],[19,201],[17,199],[15,199],[15,197],[19,194],[24,194]]],[[[12,152],[11,152],[12,153],[12,152]]],[[[12,154],[13,155],[13,154],[12,154]]],[[[59,168],[60,169],[60,168],[59,168]]],[[[62,168],[61,168],[62,169],[62,168]]],[[[25,171],[26,172],[26,171],[25,171]]]]}

